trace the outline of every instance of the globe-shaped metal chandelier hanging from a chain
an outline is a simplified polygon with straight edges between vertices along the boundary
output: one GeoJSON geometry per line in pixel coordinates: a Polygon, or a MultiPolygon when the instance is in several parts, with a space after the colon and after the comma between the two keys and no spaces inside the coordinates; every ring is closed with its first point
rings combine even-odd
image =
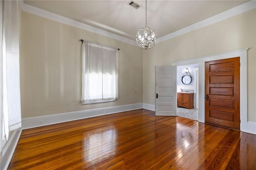
{"type": "Polygon", "coordinates": [[[147,0],[146,0],[146,26],[145,28],[140,28],[136,35],[136,42],[139,47],[143,49],[150,49],[154,47],[156,43],[155,30],[152,31],[147,26],[147,0]]]}

